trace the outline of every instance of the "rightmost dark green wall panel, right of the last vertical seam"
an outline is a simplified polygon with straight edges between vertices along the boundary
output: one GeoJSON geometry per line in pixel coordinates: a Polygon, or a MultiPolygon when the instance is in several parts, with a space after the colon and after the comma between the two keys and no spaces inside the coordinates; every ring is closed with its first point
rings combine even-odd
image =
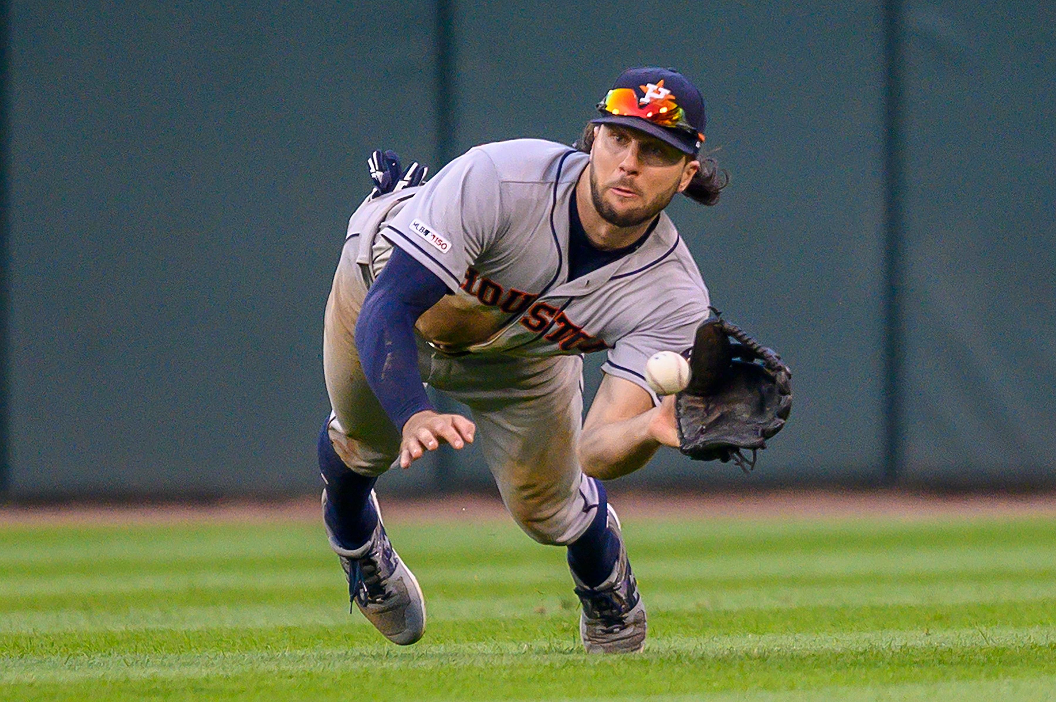
{"type": "Polygon", "coordinates": [[[906,475],[1056,478],[1056,5],[908,13],[906,475]]]}

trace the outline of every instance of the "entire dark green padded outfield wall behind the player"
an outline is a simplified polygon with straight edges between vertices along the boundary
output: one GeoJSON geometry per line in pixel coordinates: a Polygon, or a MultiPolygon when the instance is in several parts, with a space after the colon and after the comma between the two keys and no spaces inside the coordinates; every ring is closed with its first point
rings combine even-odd
{"type": "MultiPolygon", "coordinates": [[[[14,2],[12,493],[314,489],[322,307],[370,150],[570,143],[638,63],[704,93],[733,184],[673,216],[714,303],[784,353],[796,403],[750,478],[668,452],[630,481],[879,479],[879,5],[459,1],[444,99],[434,17],[14,2]]],[[[905,11],[912,481],[1056,477],[1054,27],[1032,3],[905,11]]],[[[386,482],[486,480],[451,454],[386,482]]]]}

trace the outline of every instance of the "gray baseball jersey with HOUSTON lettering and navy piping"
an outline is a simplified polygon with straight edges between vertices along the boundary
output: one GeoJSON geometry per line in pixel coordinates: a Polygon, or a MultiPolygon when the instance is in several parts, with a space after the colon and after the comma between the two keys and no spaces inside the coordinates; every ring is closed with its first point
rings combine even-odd
{"type": "Polygon", "coordinates": [[[648,358],[693,345],[708,288],[666,214],[634,252],[568,280],[568,201],[588,156],[542,139],[471,149],[432,181],[361,207],[357,262],[377,254],[375,232],[414,257],[463,308],[496,331],[472,354],[552,356],[608,350],[605,373],[643,387],[648,358]]]}

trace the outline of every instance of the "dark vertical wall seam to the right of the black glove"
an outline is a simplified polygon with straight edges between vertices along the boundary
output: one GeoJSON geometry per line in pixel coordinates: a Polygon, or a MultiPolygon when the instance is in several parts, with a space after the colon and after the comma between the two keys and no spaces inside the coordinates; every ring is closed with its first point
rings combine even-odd
{"type": "Polygon", "coordinates": [[[902,2],[885,0],[884,13],[884,475],[898,482],[903,468],[902,326],[903,183],[902,2]]]}

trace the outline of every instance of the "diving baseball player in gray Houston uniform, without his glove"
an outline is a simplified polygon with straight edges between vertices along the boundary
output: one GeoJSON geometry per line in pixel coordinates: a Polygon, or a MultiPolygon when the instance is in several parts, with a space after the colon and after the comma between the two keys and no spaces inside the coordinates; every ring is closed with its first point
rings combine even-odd
{"type": "Polygon", "coordinates": [[[326,304],[319,463],[351,600],[397,644],[422,635],[426,608],[375,481],[474,441],[516,524],[567,548],[586,650],[644,644],[601,480],[678,445],[674,397],[657,397],[644,366],[693,344],[709,296],[663,210],[680,192],[715,204],[725,178],[699,156],[704,105],[681,74],[630,69],[598,109],[578,148],[487,144],[423,185],[417,164],[372,158],[376,187],[350,220],[326,304]],[[605,375],[584,420],[582,357],[596,352],[605,375]],[[423,383],[472,418],[437,412],[423,383]]]}

